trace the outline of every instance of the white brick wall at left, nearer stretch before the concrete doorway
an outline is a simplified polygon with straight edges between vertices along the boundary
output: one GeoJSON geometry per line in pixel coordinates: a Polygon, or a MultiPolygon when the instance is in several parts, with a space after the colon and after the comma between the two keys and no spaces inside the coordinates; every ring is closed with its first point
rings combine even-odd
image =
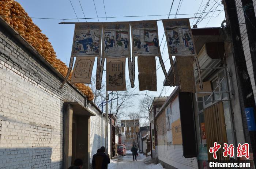
{"type": "Polygon", "coordinates": [[[63,103],[86,97],[61,81],[0,27],[0,168],[62,168],[63,103]]]}

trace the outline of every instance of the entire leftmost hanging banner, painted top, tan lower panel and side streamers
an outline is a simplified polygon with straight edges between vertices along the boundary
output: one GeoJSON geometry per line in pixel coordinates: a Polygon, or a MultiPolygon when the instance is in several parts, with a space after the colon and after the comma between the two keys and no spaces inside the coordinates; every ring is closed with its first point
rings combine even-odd
{"type": "MultiPolygon", "coordinates": [[[[76,61],[74,72],[71,78],[71,83],[82,82],[90,84],[91,82],[91,72],[93,69],[94,59],[98,57],[98,61],[100,60],[100,50],[101,50],[101,31],[102,26],[100,24],[95,23],[76,23],[75,24],[75,31],[74,31],[74,38],[72,43],[72,52],[71,52],[71,60],[69,63],[68,73],[65,77],[65,80],[61,87],[63,87],[64,83],[67,81],[74,62],[74,57],[79,57],[76,61]],[[90,57],[90,58],[81,58],[81,57],[90,57]],[[89,67],[80,67],[83,65],[89,64],[89,67]],[[87,62],[88,61],[88,62],[87,62]],[[79,70],[76,70],[79,69],[79,70]],[[79,74],[79,76],[78,76],[79,74]]],[[[87,65],[88,66],[88,65],[87,65]]],[[[97,64],[97,70],[100,70],[100,64],[97,64]]],[[[97,75],[100,72],[97,71],[97,75]]],[[[97,85],[99,86],[99,76],[97,76],[97,85]]]]}

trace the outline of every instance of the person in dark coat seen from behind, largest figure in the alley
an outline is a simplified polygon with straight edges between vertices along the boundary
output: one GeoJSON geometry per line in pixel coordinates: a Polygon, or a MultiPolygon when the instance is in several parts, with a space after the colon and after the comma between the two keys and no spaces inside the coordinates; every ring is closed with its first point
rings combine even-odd
{"type": "Polygon", "coordinates": [[[94,156],[93,166],[95,169],[107,169],[110,158],[105,154],[105,147],[101,147],[100,152],[94,156]]]}

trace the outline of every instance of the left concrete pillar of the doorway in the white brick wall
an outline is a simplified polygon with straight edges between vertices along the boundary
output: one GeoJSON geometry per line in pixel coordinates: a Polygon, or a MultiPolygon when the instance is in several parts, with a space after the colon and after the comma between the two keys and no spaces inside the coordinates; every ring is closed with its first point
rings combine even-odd
{"type": "Polygon", "coordinates": [[[73,108],[68,104],[64,112],[64,168],[71,166],[73,108]]]}

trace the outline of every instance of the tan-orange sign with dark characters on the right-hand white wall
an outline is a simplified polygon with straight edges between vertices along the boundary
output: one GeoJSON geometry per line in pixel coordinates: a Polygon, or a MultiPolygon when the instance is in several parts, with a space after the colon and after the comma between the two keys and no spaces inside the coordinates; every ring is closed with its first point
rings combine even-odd
{"type": "Polygon", "coordinates": [[[172,123],[173,144],[182,144],[180,119],[172,123]]]}

